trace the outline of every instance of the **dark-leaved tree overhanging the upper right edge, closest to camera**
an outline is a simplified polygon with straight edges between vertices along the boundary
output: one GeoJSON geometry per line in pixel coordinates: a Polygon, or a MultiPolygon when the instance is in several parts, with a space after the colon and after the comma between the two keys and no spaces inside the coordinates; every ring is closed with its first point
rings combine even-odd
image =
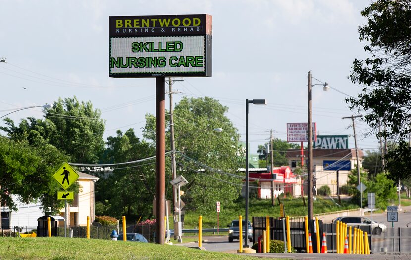
{"type": "Polygon", "coordinates": [[[365,86],[357,98],[348,98],[352,110],[363,115],[373,129],[380,122],[386,128],[377,132],[394,140],[397,151],[388,153],[391,162],[401,166],[390,170],[389,178],[398,180],[411,175],[407,139],[411,133],[411,1],[377,0],[361,15],[367,24],[359,27],[360,41],[371,57],[355,59],[349,76],[353,83],[365,86]]]}

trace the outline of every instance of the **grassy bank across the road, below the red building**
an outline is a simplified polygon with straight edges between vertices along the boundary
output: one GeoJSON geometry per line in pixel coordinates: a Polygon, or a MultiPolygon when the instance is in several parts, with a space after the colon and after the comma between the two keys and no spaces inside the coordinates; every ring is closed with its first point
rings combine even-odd
{"type": "MultiPolygon", "coordinates": [[[[281,199],[281,202],[285,207],[285,214],[290,217],[304,216],[307,215],[307,199],[306,206],[303,205],[303,200],[298,199],[281,199]]],[[[338,201],[336,201],[338,202],[338,201]]],[[[352,204],[347,201],[342,201],[341,207],[337,206],[330,199],[322,199],[317,197],[314,201],[314,214],[325,213],[332,211],[340,211],[346,209],[358,208],[357,205],[352,204]]],[[[217,226],[217,213],[212,212],[204,214],[201,212],[187,212],[184,218],[184,228],[194,228],[198,227],[198,217],[203,215],[203,228],[213,228],[217,226]]],[[[226,208],[221,205],[221,212],[219,214],[219,224],[220,227],[224,228],[231,223],[231,220],[238,219],[238,216],[245,216],[245,201],[241,201],[235,207],[226,208]]],[[[250,199],[249,200],[249,221],[251,222],[251,217],[257,216],[270,216],[270,217],[280,217],[280,206],[278,201],[275,201],[275,206],[271,206],[271,200],[260,200],[260,199],[250,199]]]]}

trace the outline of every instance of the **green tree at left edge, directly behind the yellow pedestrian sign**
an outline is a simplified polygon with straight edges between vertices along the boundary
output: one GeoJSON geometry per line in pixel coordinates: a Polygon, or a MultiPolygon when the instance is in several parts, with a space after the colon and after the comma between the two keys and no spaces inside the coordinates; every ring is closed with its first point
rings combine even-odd
{"type": "Polygon", "coordinates": [[[16,210],[11,194],[21,202],[40,200],[42,207],[53,214],[64,207],[56,200],[58,183],[52,175],[67,160],[52,145],[31,146],[0,136],[0,203],[16,210]]]}

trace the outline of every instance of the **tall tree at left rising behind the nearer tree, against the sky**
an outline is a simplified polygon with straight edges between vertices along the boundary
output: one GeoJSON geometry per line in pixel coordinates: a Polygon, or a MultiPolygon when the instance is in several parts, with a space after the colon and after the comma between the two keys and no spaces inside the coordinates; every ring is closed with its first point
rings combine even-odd
{"type": "Polygon", "coordinates": [[[97,163],[104,149],[104,121],[101,112],[90,101],[76,97],[59,98],[53,107],[44,109],[45,119],[27,118],[18,126],[8,118],[7,127],[0,127],[16,141],[28,140],[32,145],[51,144],[69,154],[77,163],[97,163]]]}

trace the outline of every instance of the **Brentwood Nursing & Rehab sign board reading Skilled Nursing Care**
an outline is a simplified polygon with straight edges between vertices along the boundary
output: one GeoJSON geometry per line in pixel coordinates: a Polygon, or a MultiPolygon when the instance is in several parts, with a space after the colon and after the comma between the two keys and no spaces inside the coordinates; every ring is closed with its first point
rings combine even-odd
{"type": "Polygon", "coordinates": [[[212,17],[110,16],[109,76],[211,76],[212,17]]]}

